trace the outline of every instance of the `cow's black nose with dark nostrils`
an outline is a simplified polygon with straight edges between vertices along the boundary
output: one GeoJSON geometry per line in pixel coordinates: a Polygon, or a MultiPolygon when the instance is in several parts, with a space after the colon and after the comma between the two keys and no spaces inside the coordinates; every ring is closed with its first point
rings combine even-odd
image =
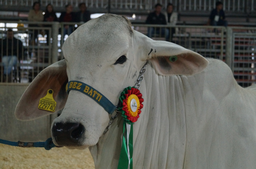
{"type": "Polygon", "coordinates": [[[56,122],[52,126],[52,136],[59,146],[81,146],[85,128],[80,123],[56,122]]]}

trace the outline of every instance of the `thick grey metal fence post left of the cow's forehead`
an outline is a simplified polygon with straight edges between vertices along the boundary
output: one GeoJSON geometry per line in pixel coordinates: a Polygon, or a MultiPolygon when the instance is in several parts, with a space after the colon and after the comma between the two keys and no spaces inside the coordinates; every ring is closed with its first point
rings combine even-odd
{"type": "Polygon", "coordinates": [[[53,24],[52,24],[52,51],[51,51],[52,52],[52,60],[51,60],[52,63],[58,62],[58,34],[59,34],[59,22],[53,22],[53,24]]]}

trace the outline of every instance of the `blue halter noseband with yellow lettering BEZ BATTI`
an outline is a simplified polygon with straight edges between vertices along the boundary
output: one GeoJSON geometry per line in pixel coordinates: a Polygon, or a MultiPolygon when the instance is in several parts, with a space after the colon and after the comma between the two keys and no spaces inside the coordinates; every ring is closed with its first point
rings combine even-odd
{"type": "Polygon", "coordinates": [[[109,99],[107,99],[103,94],[101,94],[99,91],[89,86],[88,84],[76,80],[71,80],[66,85],[66,92],[68,94],[70,90],[82,92],[83,94],[94,99],[94,101],[101,105],[109,114],[112,114],[116,110],[116,106],[111,103],[109,99]]]}

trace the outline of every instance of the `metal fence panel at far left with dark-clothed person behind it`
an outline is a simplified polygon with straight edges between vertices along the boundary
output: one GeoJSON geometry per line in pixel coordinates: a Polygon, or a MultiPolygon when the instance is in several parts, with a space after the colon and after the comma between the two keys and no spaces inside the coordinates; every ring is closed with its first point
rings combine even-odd
{"type": "Polygon", "coordinates": [[[51,27],[23,24],[13,28],[7,25],[0,27],[0,83],[32,82],[52,63],[51,27]],[[13,33],[13,39],[9,32],[13,33]]]}

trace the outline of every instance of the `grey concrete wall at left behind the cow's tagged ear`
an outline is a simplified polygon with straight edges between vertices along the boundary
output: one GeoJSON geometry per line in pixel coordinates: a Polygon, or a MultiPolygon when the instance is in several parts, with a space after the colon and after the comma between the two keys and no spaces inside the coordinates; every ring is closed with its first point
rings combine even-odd
{"type": "Polygon", "coordinates": [[[32,121],[19,121],[15,107],[28,84],[0,83],[0,139],[9,141],[45,141],[51,137],[51,123],[57,113],[32,121]]]}

